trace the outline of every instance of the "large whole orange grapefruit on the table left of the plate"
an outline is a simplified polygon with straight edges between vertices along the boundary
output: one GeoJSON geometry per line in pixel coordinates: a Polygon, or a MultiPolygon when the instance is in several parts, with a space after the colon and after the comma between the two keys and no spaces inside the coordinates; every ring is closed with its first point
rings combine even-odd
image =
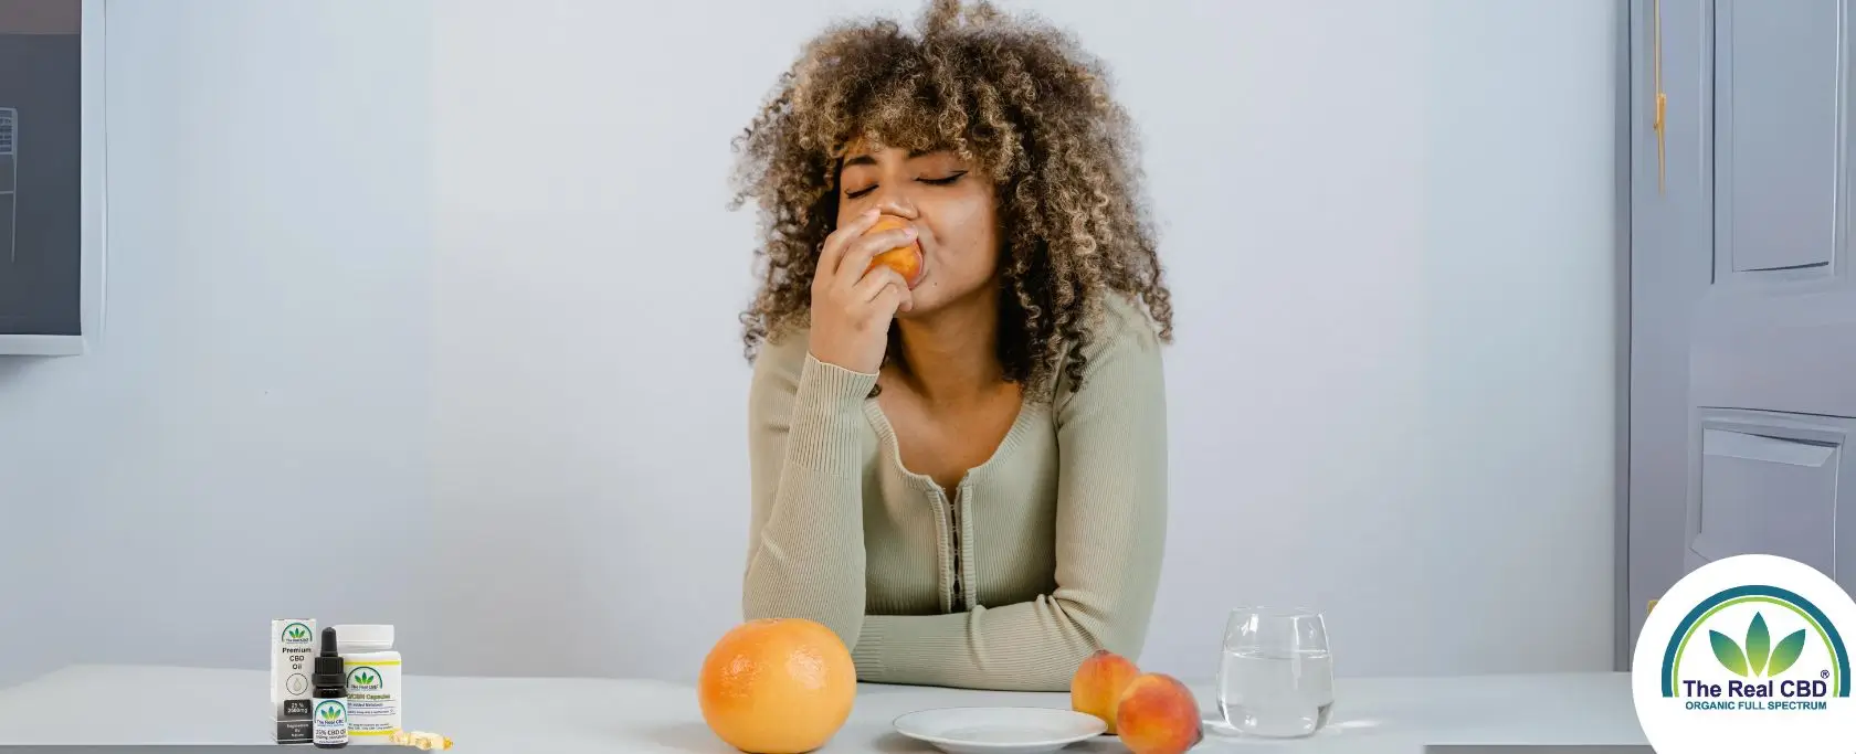
{"type": "Polygon", "coordinates": [[[824,747],[857,698],[857,669],[837,634],[806,619],[748,621],[715,643],[696,678],[702,719],[748,754],[824,747]]]}

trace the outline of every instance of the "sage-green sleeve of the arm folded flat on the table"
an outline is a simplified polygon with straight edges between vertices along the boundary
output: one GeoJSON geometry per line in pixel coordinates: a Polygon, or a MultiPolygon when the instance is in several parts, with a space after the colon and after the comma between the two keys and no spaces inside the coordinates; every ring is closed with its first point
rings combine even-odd
{"type": "Polygon", "coordinates": [[[1054,396],[1056,589],[965,613],[869,615],[852,650],[859,678],[1065,691],[1097,648],[1140,656],[1166,539],[1166,383],[1147,320],[1128,308],[1104,320],[1084,389],[1054,396]]]}

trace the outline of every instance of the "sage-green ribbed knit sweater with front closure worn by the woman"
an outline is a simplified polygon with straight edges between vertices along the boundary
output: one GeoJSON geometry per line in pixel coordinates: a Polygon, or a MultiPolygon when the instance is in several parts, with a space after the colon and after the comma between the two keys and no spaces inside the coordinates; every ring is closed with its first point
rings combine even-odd
{"type": "Polygon", "coordinates": [[[1153,326],[1110,298],[1084,389],[1058,378],[1025,402],[952,498],[902,467],[876,374],[815,359],[806,332],[767,343],[746,619],[818,621],[880,684],[1063,691],[1097,648],[1138,658],[1166,539],[1166,385],[1153,326]]]}

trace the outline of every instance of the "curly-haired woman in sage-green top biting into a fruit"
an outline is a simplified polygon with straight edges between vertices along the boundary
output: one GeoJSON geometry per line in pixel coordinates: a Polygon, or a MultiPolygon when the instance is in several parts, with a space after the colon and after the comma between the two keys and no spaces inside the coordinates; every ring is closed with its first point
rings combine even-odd
{"type": "Polygon", "coordinates": [[[809,43],[737,148],[767,222],[746,617],[830,626],[867,682],[1058,691],[1138,658],[1171,304],[1101,67],[934,2],[921,35],[809,43]],[[919,280],[867,270],[909,243],[919,280]]]}

